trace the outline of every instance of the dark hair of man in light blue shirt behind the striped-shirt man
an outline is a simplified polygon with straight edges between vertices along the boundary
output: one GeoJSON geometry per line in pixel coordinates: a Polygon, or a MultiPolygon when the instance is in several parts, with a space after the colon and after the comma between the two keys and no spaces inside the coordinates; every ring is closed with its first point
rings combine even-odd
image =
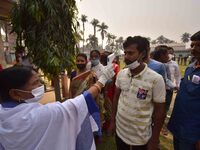
{"type": "Polygon", "coordinates": [[[159,60],[161,55],[166,54],[168,52],[168,47],[166,45],[159,45],[155,47],[153,59],[159,60]]]}

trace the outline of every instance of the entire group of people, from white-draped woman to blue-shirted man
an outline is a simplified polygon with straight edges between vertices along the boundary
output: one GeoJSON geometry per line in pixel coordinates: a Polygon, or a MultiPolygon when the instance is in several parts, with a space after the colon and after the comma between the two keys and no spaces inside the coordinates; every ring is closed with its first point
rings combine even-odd
{"type": "Polygon", "coordinates": [[[115,135],[117,150],[157,150],[168,130],[174,150],[200,150],[200,31],[191,36],[195,61],[182,79],[172,47],[150,52],[147,38],[130,36],[123,49],[124,68],[118,57],[108,63],[110,52],[79,53],[63,103],[38,103],[44,86],[32,69],[3,69],[0,150],[94,150],[102,132],[115,135]]]}

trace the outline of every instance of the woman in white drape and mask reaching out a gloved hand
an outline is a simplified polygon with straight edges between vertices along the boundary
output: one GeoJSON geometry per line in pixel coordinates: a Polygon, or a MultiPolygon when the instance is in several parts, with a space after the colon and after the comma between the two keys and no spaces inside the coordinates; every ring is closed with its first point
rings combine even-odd
{"type": "Polygon", "coordinates": [[[96,97],[114,76],[106,67],[90,89],[63,103],[38,101],[44,86],[30,68],[0,72],[0,150],[95,150],[93,131],[100,127],[96,97]]]}

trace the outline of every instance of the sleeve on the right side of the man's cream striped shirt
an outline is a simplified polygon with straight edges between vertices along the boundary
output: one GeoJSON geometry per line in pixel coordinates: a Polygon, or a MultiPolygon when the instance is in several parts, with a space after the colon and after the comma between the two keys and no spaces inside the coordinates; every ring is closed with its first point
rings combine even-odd
{"type": "Polygon", "coordinates": [[[155,80],[153,87],[153,102],[155,103],[165,103],[166,88],[164,80],[161,76],[155,80]]]}

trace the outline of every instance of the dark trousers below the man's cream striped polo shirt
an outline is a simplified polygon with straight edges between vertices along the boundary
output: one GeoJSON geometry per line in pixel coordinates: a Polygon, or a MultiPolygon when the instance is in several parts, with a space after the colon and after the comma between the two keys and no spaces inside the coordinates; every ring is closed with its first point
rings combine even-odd
{"type": "Polygon", "coordinates": [[[147,149],[147,145],[128,145],[124,143],[124,141],[122,141],[120,137],[117,136],[117,134],[116,134],[115,140],[116,140],[117,150],[146,150],[147,149]]]}

